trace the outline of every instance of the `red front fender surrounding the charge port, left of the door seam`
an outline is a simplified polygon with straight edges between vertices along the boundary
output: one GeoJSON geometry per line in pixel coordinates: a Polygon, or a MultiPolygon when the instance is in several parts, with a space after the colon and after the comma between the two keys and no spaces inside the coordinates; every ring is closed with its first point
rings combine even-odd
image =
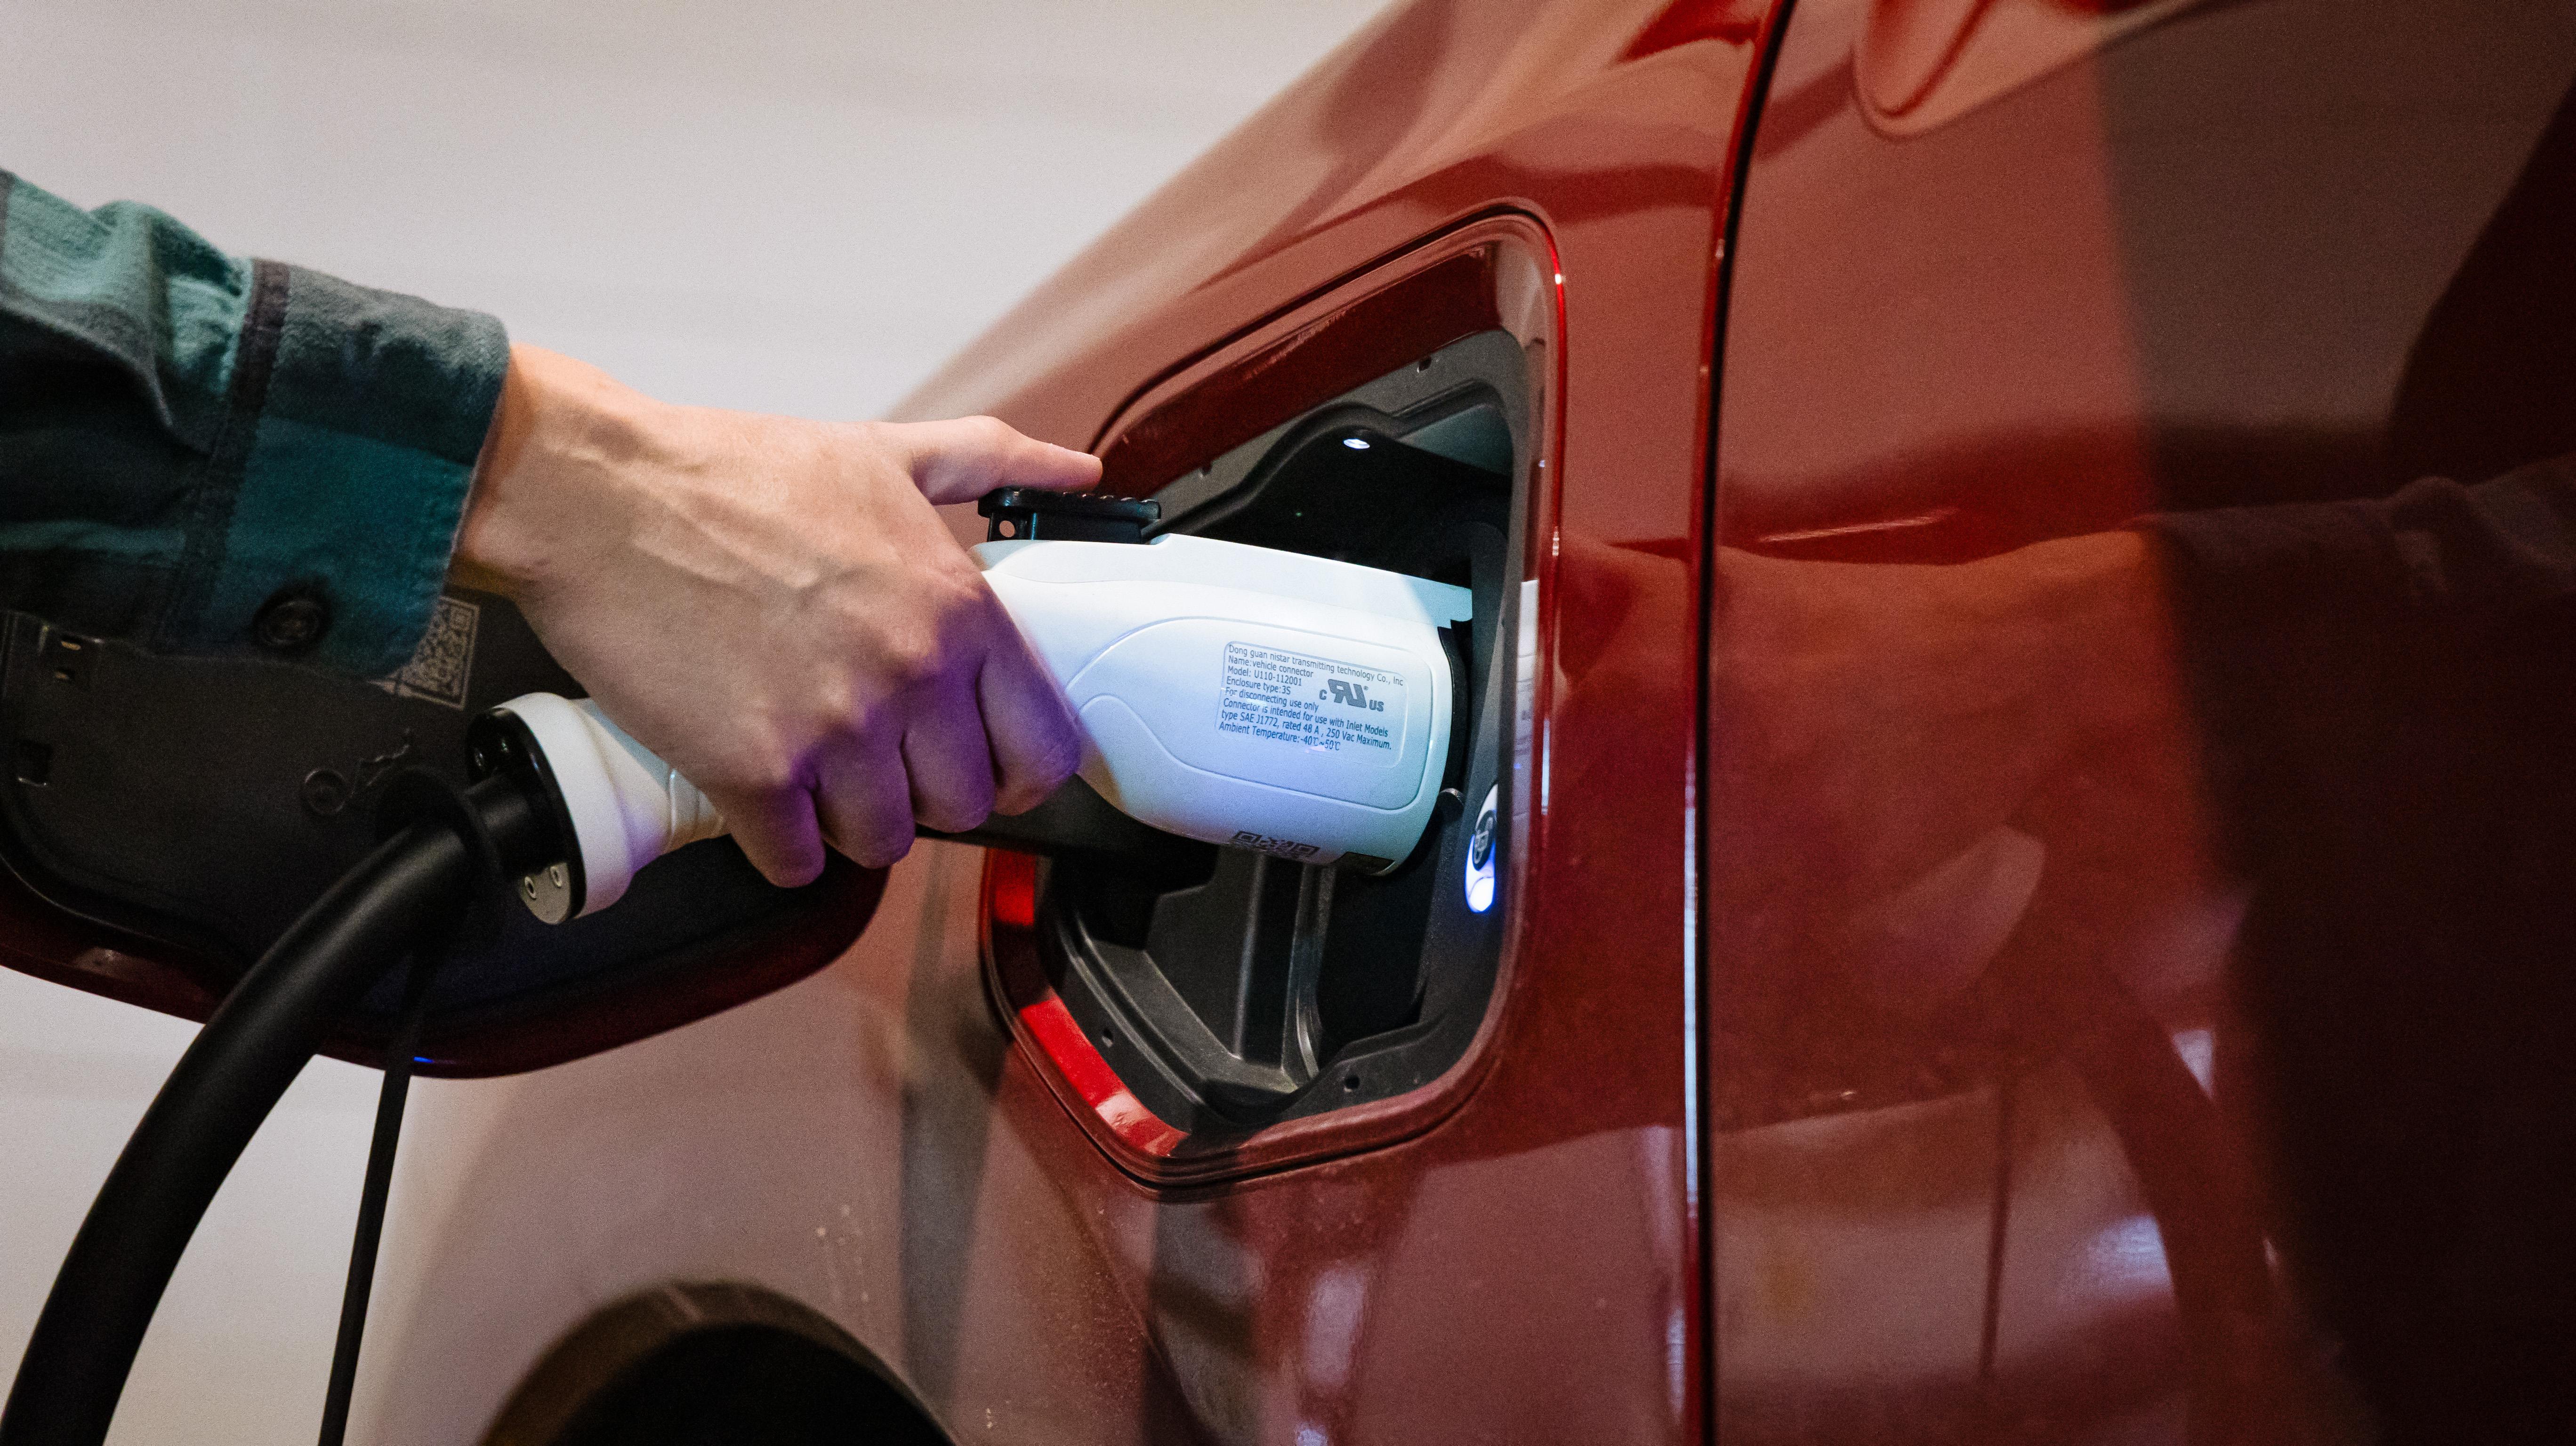
{"type": "Polygon", "coordinates": [[[925,843],[817,979],[415,1124],[384,1353],[451,1371],[386,1376],[386,1438],[531,1420],[526,1392],[502,1402],[528,1361],[672,1278],[811,1302],[958,1438],[1703,1436],[1695,557],[1757,31],[1710,5],[1399,8],[904,407],[994,412],[1154,485],[1136,423],[1283,335],[1324,322],[1260,369],[1288,394],[1239,387],[1177,446],[1213,456],[1262,407],[1406,366],[1412,322],[1329,320],[1368,322],[1443,247],[1494,232],[1548,258],[1515,312],[1486,299],[1538,343],[1546,781],[1466,1059],[1255,1137],[1213,1183],[1154,1181],[1154,1124],[1126,1113],[1121,1139],[1079,1039],[987,987],[1025,918],[1012,866],[925,843]]]}

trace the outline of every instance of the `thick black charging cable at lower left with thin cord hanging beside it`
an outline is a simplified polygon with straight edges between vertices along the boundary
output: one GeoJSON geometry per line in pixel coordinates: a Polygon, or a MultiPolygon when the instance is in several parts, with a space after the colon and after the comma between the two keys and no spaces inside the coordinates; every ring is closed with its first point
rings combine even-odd
{"type": "MultiPolygon", "coordinates": [[[[425,773],[410,778],[407,791],[386,799],[402,804],[394,833],[242,974],[134,1126],[36,1317],[0,1410],[0,1446],[106,1441],[188,1237],[260,1121],[319,1049],[325,1028],[394,964],[425,959],[422,946],[443,938],[492,882],[559,856],[549,809],[518,778],[502,773],[461,791],[425,773]]],[[[425,995],[428,972],[412,985],[425,995]]],[[[392,1049],[386,1065],[407,1072],[412,1049],[417,1041],[392,1049]]],[[[386,1108],[399,1121],[399,1098],[386,1108]]],[[[384,1111],[379,1152],[389,1181],[392,1137],[381,1119],[384,1111]]],[[[376,1173],[379,1160],[371,1160],[371,1209],[381,1219],[376,1173]]],[[[374,1245],[366,1219],[361,1242],[374,1245]]],[[[374,1260],[366,1266],[374,1278],[374,1260]]],[[[353,1294],[363,1297],[355,1278],[353,1294]]],[[[363,1299],[355,1312],[363,1320],[363,1299]]],[[[348,1320],[340,1335],[353,1379],[348,1320]]],[[[335,1392],[337,1376],[335,1364],[335,1392]]],[[[337,1412],[345,1423],[345,1400],[337,1412]]]]}

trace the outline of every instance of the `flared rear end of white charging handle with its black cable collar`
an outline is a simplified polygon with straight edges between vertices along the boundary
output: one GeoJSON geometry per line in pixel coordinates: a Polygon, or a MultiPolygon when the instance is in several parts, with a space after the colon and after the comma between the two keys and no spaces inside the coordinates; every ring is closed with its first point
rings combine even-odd
{"type": "Polygon", "coordinates": [[[546,923],[605,910],[654,858],[726,833],[696,784],[590,699],[510,699],[474,719],[466,750],[477,778],[510,773],[554,812],[562,858],[518,876],[520,902],[546,923]]]}

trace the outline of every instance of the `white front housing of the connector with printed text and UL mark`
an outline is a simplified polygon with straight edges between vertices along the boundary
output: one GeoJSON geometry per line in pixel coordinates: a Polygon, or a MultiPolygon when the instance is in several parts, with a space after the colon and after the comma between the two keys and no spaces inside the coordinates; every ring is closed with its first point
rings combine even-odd
{"type": "Polygon", "coordinates": [[[1383,871],[1440,799],[1471,593],[1203,536],[987,541],[984,583],[1082,719],[1082,778],[1159,830],[1383,871]]]}

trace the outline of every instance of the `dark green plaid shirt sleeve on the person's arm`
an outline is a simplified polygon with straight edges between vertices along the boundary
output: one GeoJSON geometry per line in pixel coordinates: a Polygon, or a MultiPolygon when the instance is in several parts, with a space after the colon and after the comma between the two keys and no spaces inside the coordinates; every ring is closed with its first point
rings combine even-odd
{"type": "Polygon", "coordinates": [[[386,675],[438,603],[507,366],[479,312],[0,170],[0,606],[386,675]],[[319,608],[263,629],[289,598],[319,608]]]}

